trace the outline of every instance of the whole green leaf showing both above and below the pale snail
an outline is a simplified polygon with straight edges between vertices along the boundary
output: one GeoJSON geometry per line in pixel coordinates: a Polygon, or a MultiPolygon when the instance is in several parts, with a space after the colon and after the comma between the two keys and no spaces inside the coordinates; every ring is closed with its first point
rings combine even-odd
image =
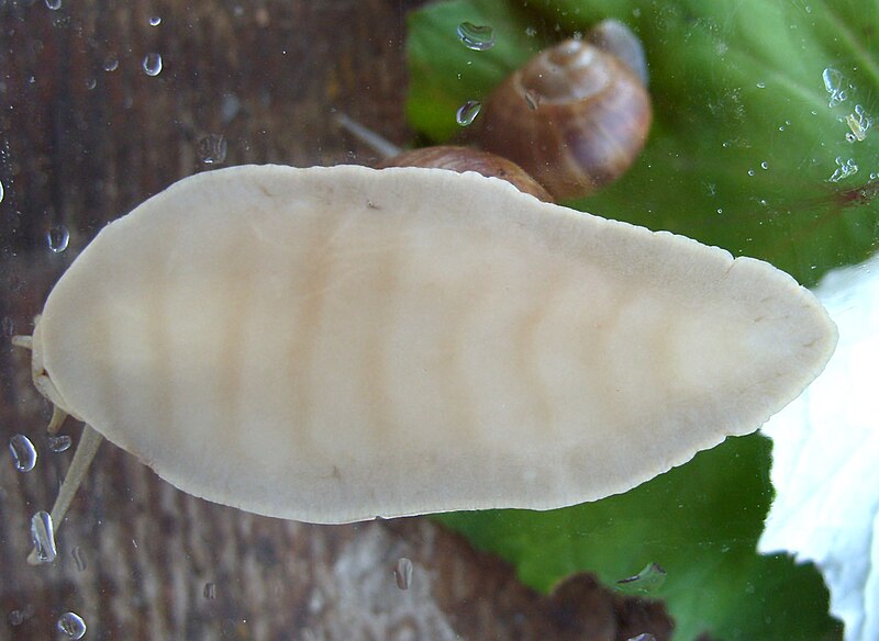
{"type": "MultiPolygon", "coordinates": [[[[455,112],[482,99],[550,42],[613,16],[642,37],[655,122],[617,183],[574,203],[756,256],[813,284],[879,243],[879,132],[849,143],[845,116],[879,117],[879,9],[856,0],[456,0],[411,14],[408,114],[426,138],[461,133],[455,112]],[[522,3],[524,4],[524,3],[522,3]],[[491,25],[497,45],[467,49],[459,23],[491,25]],[[838,74],[831,106],[823,75],[838,74]],[[857,173],[831,181],[849,159],[857,173]]],[[[758,436],[732,439],[624,495],[552,513],[457,514],[443,522],[512,561],[548,591],[572,572],[608,585],[659,563],[655,596],[677,639],[836,639],[811,565],[760,556],[771,487],[758,436]]]]}

